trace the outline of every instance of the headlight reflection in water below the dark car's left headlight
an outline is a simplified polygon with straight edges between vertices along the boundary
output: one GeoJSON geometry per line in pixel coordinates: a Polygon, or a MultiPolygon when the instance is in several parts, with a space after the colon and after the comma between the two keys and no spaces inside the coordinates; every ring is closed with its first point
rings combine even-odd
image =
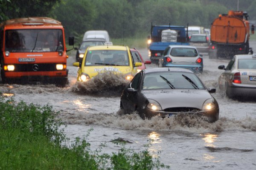
{"type": "Polygon", "coordinates": [[[149,153],[153,158],[159,157],[162,150],[162,140],[160,139],[160,134],[154,131],[150,132],[148,134],[148,139],[150,140],[150,145],[148,146],[149,153]]]}

